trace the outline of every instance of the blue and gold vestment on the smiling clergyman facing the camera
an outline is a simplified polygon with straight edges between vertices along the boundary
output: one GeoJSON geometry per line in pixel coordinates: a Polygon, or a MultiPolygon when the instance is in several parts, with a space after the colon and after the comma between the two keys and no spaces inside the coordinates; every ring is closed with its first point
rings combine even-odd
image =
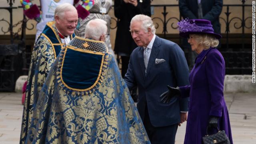
{"type": "MultiPolygon", "coordinates": [[[[70,35],[73,38],[75,35],[70,35]]],[[[28,129],[30,128],[32,114],[40,94],[40,90],[50,71],[52,64],[64,46],[55,22],[48,22],[34,46],[28,72],[26,100],[24,103],[20,144],[24,144],[28,129]]]]}

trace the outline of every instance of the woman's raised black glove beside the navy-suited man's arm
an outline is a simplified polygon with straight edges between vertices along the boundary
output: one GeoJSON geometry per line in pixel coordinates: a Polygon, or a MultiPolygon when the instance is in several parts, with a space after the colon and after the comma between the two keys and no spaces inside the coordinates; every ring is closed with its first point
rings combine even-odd
{"type": "Polygon", "coordinates": [[[171,98],[173,98],[174,96],[180,96],[180,88],[178,86],[177,86],[177,88],[172,88],[167,85],[167,88],[169,90],[167,90],[160,96],[160,101],[163,103],[170,102],[171,98]]]}

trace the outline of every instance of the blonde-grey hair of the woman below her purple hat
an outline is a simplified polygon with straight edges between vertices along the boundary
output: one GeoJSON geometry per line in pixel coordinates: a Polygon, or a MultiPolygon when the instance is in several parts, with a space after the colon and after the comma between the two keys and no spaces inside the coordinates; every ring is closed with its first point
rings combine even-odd
{"type": "Polygon", "coordinates": [[[204,46],[205,50],[219,45],[219,40],[210,34],[192,34],[192,36],[194,36],[196,42],[204,46]]]}

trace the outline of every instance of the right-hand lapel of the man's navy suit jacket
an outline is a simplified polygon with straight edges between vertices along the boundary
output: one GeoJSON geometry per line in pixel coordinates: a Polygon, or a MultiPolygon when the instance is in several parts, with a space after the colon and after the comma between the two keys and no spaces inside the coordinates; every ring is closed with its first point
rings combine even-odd
{"type": "Polygon", "coordinates": [[[159,42],[159,37],[156,36],[156,39],[153,43],[153,47],[152,47],[152,50],[151,50],[151,53],[150,53],[150,57],[149,57],[149,60],[148,60],[148,68],[147,68],[147,76],[150,72],[150,68],[152,67],[153,64],[155,64],[155,60],[156,60],[156,57],[158,56],[158,53],[160,51],[160,42],[159,42]]]}

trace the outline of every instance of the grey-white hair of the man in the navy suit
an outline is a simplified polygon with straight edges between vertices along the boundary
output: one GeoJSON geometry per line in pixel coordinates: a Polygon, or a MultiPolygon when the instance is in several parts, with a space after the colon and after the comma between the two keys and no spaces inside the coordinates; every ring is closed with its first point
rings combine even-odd
{"type": "Polygon", "coordinates": [[[141,22],[142,23],[142,28],[145,30],[145,32],[148,32],[148,28],[150,28],[152,34],[156,33],[156,28],[153,24],[152,19],[149,16],[146,16],[144,14],[138,14],[138,15],[136,15],[132,18],[131,24],[133,22],[141,22]]]}

